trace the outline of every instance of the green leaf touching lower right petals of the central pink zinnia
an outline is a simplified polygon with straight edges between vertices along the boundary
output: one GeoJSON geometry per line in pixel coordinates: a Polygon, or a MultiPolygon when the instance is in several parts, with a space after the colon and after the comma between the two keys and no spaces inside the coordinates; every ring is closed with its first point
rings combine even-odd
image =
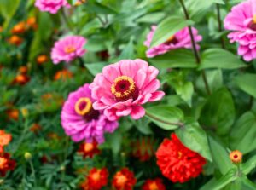
{"type": "Polygon", "coordinates": [[[154,106],[147,108],[147,117],[157,124],[160,128],[164,130],[175,130],[177,125],[167,124],[167,123],[179,123],[183,121],[184,115],[183,112],[177,107],[170,106],[154,106]],[[153,116],[150,117],[149,115],[153,116]],[[163,124],[158,119],[164,121],[166,124],[163,124]]]}

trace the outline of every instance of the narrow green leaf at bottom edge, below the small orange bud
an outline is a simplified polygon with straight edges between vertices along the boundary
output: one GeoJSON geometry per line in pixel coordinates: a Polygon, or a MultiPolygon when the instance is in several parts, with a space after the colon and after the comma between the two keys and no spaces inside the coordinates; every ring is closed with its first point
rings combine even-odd
{"type": "Polygon", "coordinates": [[[236,176],[236,169],[230,169],[226,175],[222,176],[218,181],[216,179],[207,182],[200,190],[221,190],[230,182],[235,181],[238,178],[236,176]]]}

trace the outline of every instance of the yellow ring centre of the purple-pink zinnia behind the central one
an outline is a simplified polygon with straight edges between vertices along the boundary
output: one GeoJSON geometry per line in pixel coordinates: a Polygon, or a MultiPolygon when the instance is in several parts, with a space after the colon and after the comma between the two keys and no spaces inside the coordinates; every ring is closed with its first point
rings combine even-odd
{"type": "Polygon", "coordinates": [[[86,113],[90,112],[92,108],[92,103],[90,101],[90,98],[79,98],[79,101],[76,102],[75,104],[75,111],[78,113],[80,116],[84,116],[86,113]]]}

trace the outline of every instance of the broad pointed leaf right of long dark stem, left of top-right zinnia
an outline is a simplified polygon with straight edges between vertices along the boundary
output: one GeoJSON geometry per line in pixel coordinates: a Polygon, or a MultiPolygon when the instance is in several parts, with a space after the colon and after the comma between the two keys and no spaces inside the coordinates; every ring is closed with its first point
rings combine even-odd
{"type": "Polygon", "coordinates": [[[224,49],[207,49],[202,53],[199,69],[236,69],[246,66],[237,55],[224,49]]]}

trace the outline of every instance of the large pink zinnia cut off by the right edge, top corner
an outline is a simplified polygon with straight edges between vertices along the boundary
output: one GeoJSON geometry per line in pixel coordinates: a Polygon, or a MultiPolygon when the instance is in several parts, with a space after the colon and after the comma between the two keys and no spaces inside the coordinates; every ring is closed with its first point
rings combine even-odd
{"type": "Polygon", "coordinates": [[[248,0],[237,4],[224,20],[230,32],[230,43],[239,43],[238,55],[250,61],[256,58],[256,1],[248,0]]]}

